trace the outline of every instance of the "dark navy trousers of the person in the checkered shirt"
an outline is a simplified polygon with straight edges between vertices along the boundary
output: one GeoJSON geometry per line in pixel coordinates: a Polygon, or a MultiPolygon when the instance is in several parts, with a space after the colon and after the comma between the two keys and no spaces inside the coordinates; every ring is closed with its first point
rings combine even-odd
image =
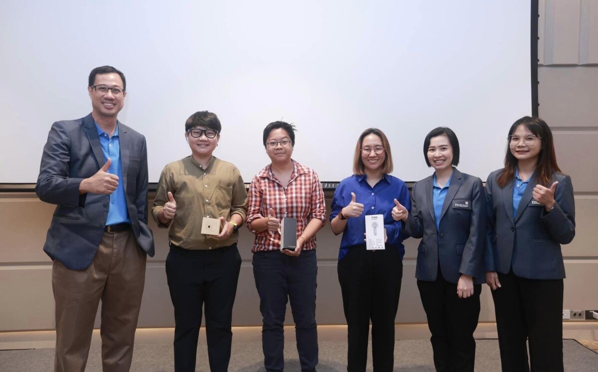
{"type": "Polygon", "coordinates": [[[267,371],[285,367],[284,347],[286,302],[291,302],[301,371],[315,371],[318,364],[316,328],[316,251],[301,251],[298,257],[280,251],[254,253],[255,287],[260,294],[262,348],[267,371]]]}

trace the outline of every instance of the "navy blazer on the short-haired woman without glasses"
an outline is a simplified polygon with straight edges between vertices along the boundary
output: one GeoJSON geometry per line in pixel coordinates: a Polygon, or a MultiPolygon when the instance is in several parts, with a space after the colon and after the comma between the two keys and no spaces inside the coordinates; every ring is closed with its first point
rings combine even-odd
{"type": "Polygon", "coordinates": [[[405,231],[422,238],[417,247],[416,278],[435,281],[438,260],[444,279],[457,283],[460,275],[474,277],[475,284],[486,282],[483,254],[486,240],[486,200],[478,177],[454,168],[449,190],[436,228],[432,184],[434,175],[418,181],[411,194],[411,213],[405,231]]]}

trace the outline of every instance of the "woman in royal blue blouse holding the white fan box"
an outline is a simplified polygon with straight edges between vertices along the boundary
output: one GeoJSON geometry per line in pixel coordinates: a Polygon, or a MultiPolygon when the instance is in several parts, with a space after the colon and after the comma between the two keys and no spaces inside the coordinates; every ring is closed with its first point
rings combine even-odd
{"type": "Polygon", "coordinates": [[[410,210],[410,199],[405,183],[391,172],[388,139],[376,128],[367,129],[355,146],[355,174],[340,182],[332,198],[332,232],[343,233],[338,281],[349,328],[348,371],[365,371],[370,321],[374,371],[393,369],[405,235],[391,213],[395,200],[410,210]],[[365,215],[371,214],[384,216],[384,250],[367,250],[364,243],[365,215]]]}

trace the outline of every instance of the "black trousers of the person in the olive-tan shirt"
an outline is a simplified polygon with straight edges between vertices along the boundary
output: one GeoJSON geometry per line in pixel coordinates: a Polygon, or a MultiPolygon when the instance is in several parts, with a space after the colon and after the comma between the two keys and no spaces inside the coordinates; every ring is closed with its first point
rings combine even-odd
{"type": "Polygon", "coordinates": [[[204,306],[210,370],[228,370],[233,303],[240,268],[241,256],[236,244],[199,251],[170,245],[166,277],[175,307],[176,372],[195,371],[204,306]]]}

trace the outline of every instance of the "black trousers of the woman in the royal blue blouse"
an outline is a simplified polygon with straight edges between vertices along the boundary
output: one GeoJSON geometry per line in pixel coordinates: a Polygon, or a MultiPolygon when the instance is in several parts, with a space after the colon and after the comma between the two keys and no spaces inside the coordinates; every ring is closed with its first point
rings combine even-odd
{"type": "Polygon", "coordinates": [[[358,245],[338,262],[337,270],[349,331],[347,371],[365,371],[370,321],[374,371],[392,371],[395,316],[403,275],[401,254],[389,245],[380,251],[358,245]]]}

